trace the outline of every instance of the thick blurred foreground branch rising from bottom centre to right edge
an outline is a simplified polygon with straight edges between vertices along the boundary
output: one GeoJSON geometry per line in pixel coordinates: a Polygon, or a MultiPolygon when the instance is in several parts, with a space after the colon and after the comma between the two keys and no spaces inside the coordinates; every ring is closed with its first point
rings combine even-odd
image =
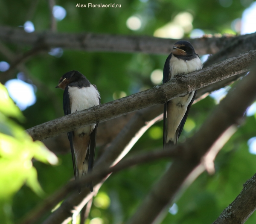
{"type": "Polygon", "coordinates": [[[128,221],[128,224],[158,223],[161,212],[173,202],[177,192],[187,180],[202,172],[201,158],[209,148],[232,125],[241,124],[244,111],[256,99],[256,69],[229,92],[199,131],[183,145],[183,156],[175,158],[165,175],[151,189],[151,192],[128,221]]]}

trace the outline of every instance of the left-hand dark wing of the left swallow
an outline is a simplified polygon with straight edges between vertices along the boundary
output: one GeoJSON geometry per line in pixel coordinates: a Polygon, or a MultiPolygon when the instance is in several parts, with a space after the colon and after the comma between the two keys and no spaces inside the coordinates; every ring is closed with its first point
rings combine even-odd
{"type": "MultiPolygon", "coordinates": [[[[68,86],[65,88],[64,94],[63,94],[63,110],[64,110],[65,115],[68,115],[68,114],[71,113],[71,102],[70,102],[70,96],[69,96],[69,93],[68,93],[68,86]]],[[[75,160],[75,154],[74,154],[73,131],[68,132],[67,137],[68,137],[68,140],[70,142],[70,149],[71,149],[71,155],[72,155],[74,175],[75,175],[75,179],[77,179],[78,170],[76,168],[76,160],[75,160]]]]}

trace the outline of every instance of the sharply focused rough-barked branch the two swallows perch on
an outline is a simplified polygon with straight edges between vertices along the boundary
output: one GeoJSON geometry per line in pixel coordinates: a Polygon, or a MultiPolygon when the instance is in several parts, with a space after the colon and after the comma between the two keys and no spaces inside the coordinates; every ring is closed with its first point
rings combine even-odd
{"type": "Polygon", "coordinates": [[[214,64],[186,75],[176,76],[160,86],[133,94],[93,108],[37,125],[26,130],[34,140],[44,140],[76,128],[103,122],[126,113],[140,110],[151,105],[163,104],[177,96],[183,96],[209,84],[227,79],[248,71],[255,61],[256,50],[244,52],[234,58],[214,64]]]}

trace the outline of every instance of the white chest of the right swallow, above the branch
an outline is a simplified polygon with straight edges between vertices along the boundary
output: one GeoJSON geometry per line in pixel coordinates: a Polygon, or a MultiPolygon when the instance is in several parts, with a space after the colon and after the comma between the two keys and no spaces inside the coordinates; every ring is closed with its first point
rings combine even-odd
{"type": "Polygon", "coordinates": [[[170,66],[170,78],[173,79],[173,77],[177,74],[182,73],[191,73],[197,70],[200,70],[203,67],[203,64],[200,60],[200,58],[196,57],[192,60],[185,61],[180,58],[176,58],[174,55],[172,55],[172,58],[169,62],[170,66]]]}

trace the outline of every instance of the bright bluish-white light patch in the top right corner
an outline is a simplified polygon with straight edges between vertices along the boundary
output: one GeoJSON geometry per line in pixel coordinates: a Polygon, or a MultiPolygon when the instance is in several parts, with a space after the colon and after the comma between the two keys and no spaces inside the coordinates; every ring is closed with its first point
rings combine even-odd
{"type": "Polygon", "coordinates": [[[245,9],[242,15],[241,34],[256,32],[256,2],[245,9]]]}

